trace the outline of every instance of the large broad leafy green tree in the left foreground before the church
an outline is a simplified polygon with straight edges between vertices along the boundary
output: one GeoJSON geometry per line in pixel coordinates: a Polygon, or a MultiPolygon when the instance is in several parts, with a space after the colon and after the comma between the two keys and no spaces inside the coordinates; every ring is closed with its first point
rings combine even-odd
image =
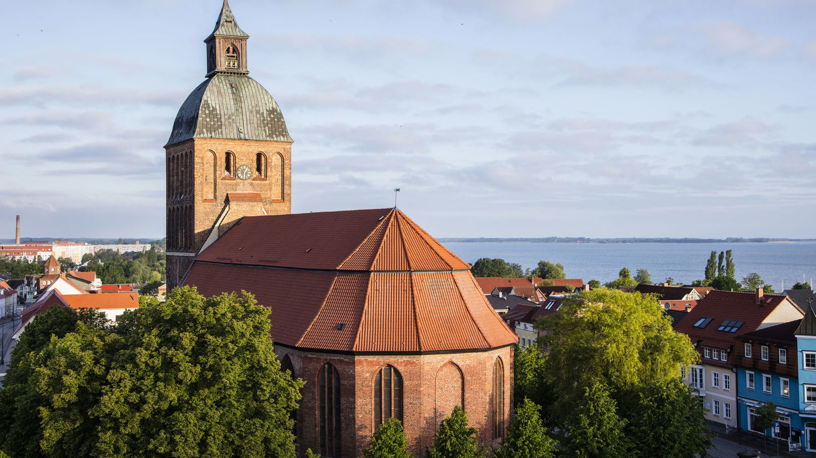
{"type": "Polygon", "coordinates": [[[78,324],[37,356],[47,456],[295,456],[302,382],[251,294],[141,297],[118,326],[78,324]]]}

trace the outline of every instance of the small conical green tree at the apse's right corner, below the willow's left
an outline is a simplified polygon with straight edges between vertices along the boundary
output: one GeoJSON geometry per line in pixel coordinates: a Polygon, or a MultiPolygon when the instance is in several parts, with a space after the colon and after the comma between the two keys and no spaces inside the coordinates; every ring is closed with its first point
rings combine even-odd
{"type": "Polygon", "coordinates": [[[524,399],[516,409],[510,425],[508,437],[503,447],[494,453],[495,458],[552,458],[556,450],[555,441],[550,438],[541,423],[541,407],[530,399],[524,399]]]}

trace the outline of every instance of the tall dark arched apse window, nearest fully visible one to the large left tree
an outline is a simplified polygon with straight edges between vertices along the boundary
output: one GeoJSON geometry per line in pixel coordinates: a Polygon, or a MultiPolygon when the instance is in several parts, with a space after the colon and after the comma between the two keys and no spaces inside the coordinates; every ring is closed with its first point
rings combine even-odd
{"type": "Polygon", "coordinates": [[[334,366],[325,363],[317,379],[320,454],[340,458],[340,375],[334,366]]]}

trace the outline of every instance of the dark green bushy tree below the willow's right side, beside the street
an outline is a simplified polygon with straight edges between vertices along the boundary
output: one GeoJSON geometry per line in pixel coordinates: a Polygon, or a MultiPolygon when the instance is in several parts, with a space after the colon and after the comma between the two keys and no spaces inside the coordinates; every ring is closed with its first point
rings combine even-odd
{"type": "Polygon", "coordinates": [[[706,425],[703,400],[680,378],[645,381],[626,395],[619,412],[628,420],[624,429],[632,456],[708,456],[712,437],[706,425]]]}

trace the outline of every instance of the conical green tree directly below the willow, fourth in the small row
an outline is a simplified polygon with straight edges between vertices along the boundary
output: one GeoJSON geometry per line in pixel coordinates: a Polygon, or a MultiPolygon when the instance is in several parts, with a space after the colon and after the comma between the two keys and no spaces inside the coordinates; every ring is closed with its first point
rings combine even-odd
{"type": "Polygon", "coordinates": [[[626,451],[623,428],[626,421],[618,416],[617,403],[603,383],[583,389],[579,407],[570,414],[569,441],[566,449],[574,458],[622,458],[626,451]]]}

